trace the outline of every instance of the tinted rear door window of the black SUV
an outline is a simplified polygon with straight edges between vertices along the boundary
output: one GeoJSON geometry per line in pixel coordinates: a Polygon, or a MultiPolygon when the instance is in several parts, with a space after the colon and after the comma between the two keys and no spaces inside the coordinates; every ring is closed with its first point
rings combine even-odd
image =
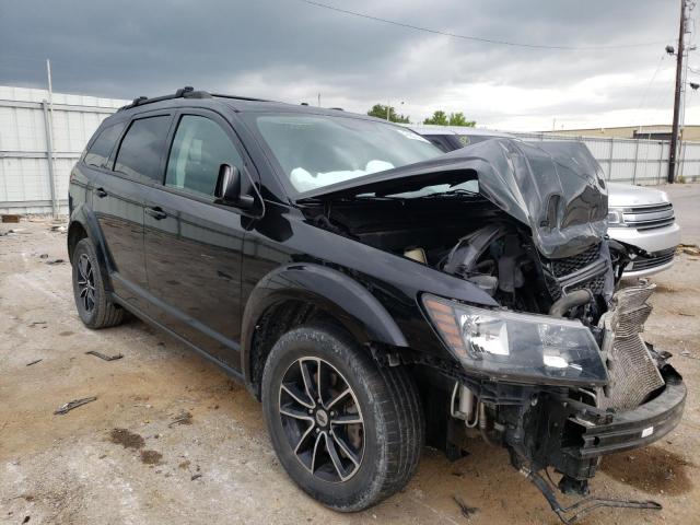
{"type": "Polygon", "coordinates": [[[171,117],[149,117],[131,122],[121,141],[115,172],[132,177],[161,180],[161,154],[165,147],[171,117]]]}

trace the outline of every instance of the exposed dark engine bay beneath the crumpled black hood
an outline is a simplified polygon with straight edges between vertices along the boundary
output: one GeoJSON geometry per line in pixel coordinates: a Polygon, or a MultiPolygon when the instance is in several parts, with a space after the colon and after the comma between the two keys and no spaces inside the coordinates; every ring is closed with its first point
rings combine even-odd
{"type": "Polygon", "coordinates": [[[586,304],[560,315],[592,327],[607,310],[625,262],[623,253],[611,256],[603,240],[574,256],[548,259],[526,225],[478,195],[357,199],[306,213],[319,228],[458,277],[514,312],[549,314],[563,295],[590,290],[586,304]]]}

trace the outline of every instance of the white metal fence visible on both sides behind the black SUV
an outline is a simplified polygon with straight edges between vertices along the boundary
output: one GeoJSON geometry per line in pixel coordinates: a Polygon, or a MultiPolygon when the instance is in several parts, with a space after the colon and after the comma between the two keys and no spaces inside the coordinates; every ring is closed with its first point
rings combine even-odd
{"type": "MultiPolygon", "coordinates": [[[[72,165],[100,122],[128,103],[55,93],[49,105],[48,97],[46,90],[0,86],[0,213],[66,213],[72,165]]],[[[581,140],[611,180],[666,180],[668,141],[514,135],[528,141],[581,140]]],[[[678,174],[699,180],[700,142],[684,142],[679,159],[678,174]]]]}

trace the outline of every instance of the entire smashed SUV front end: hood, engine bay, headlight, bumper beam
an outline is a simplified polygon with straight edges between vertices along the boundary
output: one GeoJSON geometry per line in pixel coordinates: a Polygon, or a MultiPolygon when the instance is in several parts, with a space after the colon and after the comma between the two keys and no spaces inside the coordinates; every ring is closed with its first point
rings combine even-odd
{"type": "MultiPolygon", "coordinates": [[[[559,490],[586,494],[603,455],[665,435],[686,398],[670,355],[640,335],[654,287],[616,291],[629,261],[608,242],[606,185],[583,144],[486,141],[301,200],[318,198],[323,212],[308,215],[322,228],[493,300],[468,303],[429,288],[419,295],[455,360],[416,360],[454,385],[448,455],[459,457],[474,436],[505,446],[562,521],[600,505],[656,508],[598,499],[563,509],[539,474],[553,468],[559,490]]],[[[429,402],[440,399],[432,388],[429,402]]]]}

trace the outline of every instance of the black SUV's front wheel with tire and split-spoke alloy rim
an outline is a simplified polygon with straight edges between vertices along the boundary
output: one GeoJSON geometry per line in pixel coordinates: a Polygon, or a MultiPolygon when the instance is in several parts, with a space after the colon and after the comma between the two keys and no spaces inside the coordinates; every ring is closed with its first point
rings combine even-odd
{"type": "Polygon", "coordinates": [[[394,494],[413,475],[424,420],[402,368],[383,368],[335,326],[283,335],[262,375],[262,410],[290,477],[342,512],[394,494]]]}

